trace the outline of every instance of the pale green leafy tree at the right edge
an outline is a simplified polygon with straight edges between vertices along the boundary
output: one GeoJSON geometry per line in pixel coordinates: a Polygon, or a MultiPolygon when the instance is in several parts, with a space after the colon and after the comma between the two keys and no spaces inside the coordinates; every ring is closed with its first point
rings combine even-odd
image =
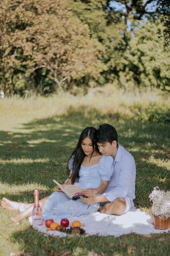
{"type": "Polygon", "coordinates": [[[133,73],[138,86],[167,89],[170,85],[170,47],[164,48],[164,26],[160,19],[137,26],[129,46],[127,78],[133,73]]]}

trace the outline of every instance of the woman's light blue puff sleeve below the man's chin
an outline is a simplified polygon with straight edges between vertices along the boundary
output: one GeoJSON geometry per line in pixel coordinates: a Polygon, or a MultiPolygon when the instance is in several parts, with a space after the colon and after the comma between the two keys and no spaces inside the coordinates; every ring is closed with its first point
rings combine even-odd
{"type": "Polygon", "coordinates": [[[102,156],[99,161],[99,173],[101,175],[101,180],[110,180],[113,174],[113,157],[112,156],[102,156]]]}

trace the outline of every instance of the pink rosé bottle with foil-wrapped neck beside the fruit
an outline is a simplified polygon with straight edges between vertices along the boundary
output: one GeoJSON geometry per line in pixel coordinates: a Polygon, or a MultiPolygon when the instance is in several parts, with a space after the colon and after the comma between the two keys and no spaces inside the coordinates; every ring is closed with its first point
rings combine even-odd
{"type": "Polygon", "coordinates": [[[39,205],[39,191],[38,189],[34,190],[34,208],[32,212],[33,217],[33,225],[42,225],[43,219],[42,219],[42,210],[39,205]]]}

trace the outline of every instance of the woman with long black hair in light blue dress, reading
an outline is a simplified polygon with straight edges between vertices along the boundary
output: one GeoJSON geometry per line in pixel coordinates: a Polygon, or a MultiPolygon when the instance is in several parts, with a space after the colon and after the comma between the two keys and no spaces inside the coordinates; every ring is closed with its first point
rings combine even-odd
{"type": "MultiPolygon", "coordinates": [[[[63,186],[70,184],[80,186],[87,197],[94,194],[102,194],[106,190],[113,173],[113,158],[101,156],[95,148],[95,132],[96,129],[94,127],[87,127],[82,131],[76,148],[67,163],[67,171],[70,172],[69,178],[63,184],[63,186]]],[[[53,217],[50,210],[56,206],[60,209],[56,215],[57,219],[70,217],[70,213],[66,211],[66,208],[69,207],[74,207],[75,209],[73,216],[96,212],[99,208],[99,203],[86,205],[81,199],[73,201],[65,193],[61,193],[61,190],[58,188],[51,196],[41,199],[39,203],[44,220],[53,217]]],[[[13,222],[19,224],[20,220],[32,215],[34,204],[18,203],[3,198],[1,206],[11,211],[24,210],[14,218],[11,218],[13,222]]]]}

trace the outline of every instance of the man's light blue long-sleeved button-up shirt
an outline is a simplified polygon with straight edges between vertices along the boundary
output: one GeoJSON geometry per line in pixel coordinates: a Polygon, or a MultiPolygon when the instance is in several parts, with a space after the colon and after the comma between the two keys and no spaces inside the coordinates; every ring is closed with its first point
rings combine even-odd
{"type": "Polygon", "coordinates": [[[118,146],[118,151],[113,162],[113,168],[113,174],[103,195],[110,202],[114,201],[116,198],[128,197],[131,201],[131,207],[133,207],[133,199],[135,198],[136,165],[131,153],[121,145],[118,146]]]}

